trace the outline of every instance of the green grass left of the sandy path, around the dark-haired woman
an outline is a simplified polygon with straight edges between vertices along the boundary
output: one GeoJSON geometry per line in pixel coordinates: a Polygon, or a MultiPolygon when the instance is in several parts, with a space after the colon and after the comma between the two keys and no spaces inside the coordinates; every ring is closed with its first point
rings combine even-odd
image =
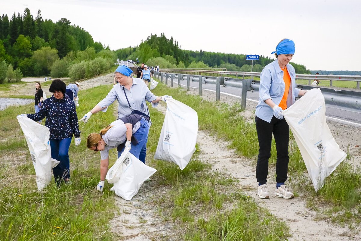
{"type": "MultiPolygon", "coordinates": [[[[87,102],[81,103],[78,115],[88,112],[110,88],[80,91],[87,102]]],[[[9,137],[0,142],[0,240],[111,240],[112,234],[106,231],[116,209],[113,193],[105,190],[100,195],[95,190],[99,154],[86,148],[85,139],[115,120],[113,112],[102,112],[91,123],[80,124],[83,142],[77,148],[72,142],[69,151],[73,184],[57,188],[52,180],[42,192],[35,191],[35,171],[16,121],[16,115],[31,112],[32,104],[0,111],[0,135],[9,137]],[[25,156],[17,155],[21,151],[26,151],[25,156]]]]}

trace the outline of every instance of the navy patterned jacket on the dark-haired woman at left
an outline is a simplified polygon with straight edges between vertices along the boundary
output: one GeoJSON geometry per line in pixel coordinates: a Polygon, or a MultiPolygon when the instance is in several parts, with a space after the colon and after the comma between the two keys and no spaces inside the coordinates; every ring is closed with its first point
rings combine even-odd
{"type": "Polygon", "coordinates": [[[50,139],[72,138],[73,134],[74,137],[80,137],[75,104],[66,94],[63,99],[56,99],[54,96],[45,99],[38,113],[26,116],[34,121],[42,120],[46,116],[45,126],[49,128],[50,139]]]}

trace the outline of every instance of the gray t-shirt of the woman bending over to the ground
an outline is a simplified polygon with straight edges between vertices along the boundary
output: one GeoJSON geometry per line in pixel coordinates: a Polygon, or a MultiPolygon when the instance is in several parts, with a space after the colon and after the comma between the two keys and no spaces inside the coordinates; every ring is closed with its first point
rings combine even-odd
{"type": "MultiPolygon", "coordinates": [[[[127,128],[122,120],[116,120],[110,123],[113,125],[104,135],[101,137],[103,138],[104,142],[106,143],[104,150],[100,151],[100,159],[105,160],[109,157],[109,150],[112,148],[118,147],[120,144],[126,141],[126,132],[127,128]]],[[[134,134],[140,127],[140,121],[136,122],[133,126],[134,134]]]]}

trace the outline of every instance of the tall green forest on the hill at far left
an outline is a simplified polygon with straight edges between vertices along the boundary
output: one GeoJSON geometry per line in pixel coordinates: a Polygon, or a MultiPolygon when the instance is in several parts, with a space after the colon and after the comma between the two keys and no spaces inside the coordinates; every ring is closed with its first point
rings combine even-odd
{"type": "MultiPolygon", "coordinates": [[[[4,69],[5,64],[7,69],[11,65],[24,76],[48,76],[56,64],[58,68],[67,68],[62,70],[61,75],[68,75],[70,65],[96,59],[99,57],[96,54],[101,51],[103,53],[100,56],[116,58],[114,52],[109,53],[109,47],[94,42],[87,31],[71,25],[66,18],[54,23],[50,19],[44,20],[41,10],[38,10],[36,17],[32,16],[28,8],[25,8],[23,14],[14,12],[11,17],[4,14],[0,16],[0,82],[4,76],[1,69],[4,69]],[[86,50],[94,54],[84,59],[81,52],[86,50]]],[[[114,59],[107,61],[114,63],[114,59]]]]}

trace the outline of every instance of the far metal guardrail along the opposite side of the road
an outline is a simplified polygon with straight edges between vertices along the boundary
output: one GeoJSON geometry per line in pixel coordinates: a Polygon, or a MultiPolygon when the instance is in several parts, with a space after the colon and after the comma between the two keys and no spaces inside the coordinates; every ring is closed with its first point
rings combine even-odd
{"type": "MultiPolygon", "coordinates": [[[[204,70],[204,69],[162,69],[160,72],[172,72],[172,73],[197,73],[200,75],[204,75],[205,73],[219,74],[220,76],[224,75],[235,75],[235,76],[260,76],[261,73],[258,72],[239,72],[239,71],[215,71],[215,70],[204,70]]],[[[252,78],[253,79],[253,78],[252,78]]],[[[330,86],[332,86],[333,81],[356,81],[357,89],[360,89],[361,76],[348,76],[348,75],[332,75],[332,74],[296,74],[296,79],[306,79],[308,80],[308,84],[311,84],[311,80],[319,79],[319,80],[329,80],[330,86]]]]}

